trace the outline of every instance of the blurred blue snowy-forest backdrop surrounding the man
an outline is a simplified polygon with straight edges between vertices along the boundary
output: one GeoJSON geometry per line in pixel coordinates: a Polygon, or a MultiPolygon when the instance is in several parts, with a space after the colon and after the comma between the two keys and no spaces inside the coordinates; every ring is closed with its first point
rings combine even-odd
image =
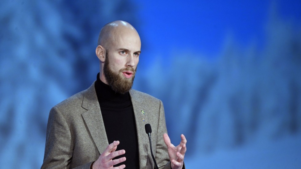
{"type": "Polygon", "coordinates": [[[301,167],[300,1],[4,1],[0,163],[40,168],[49,110],[96,79],[102,26],[142,48],[134,89],[163,101],[187,168],[301,167]]]}

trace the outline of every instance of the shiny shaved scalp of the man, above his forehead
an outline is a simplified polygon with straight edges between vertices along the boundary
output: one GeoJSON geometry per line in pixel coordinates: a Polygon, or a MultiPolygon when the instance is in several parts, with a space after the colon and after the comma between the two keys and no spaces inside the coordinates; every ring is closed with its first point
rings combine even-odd
{"type": "Polygon", "coordinates": [[[134,35],[136,34],[136,36],[138,35],[139,37],[139,34],[136,31],[136,29],[128,22],[113,21],[104,25],[104,27],[100,30],[97,45],[101,45],[104,48],[108,48],[108,45],[110,45],[112,41],[115,40],[115,36],[119,36],[123,33],[132,33],[134,35]]]}

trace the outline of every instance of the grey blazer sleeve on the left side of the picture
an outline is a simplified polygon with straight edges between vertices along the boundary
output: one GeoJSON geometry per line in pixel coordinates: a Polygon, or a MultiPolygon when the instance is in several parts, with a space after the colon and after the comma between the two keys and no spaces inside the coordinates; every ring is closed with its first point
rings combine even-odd
{"type": "MultiPolygon", "coordinates": [[[[73,139],[68,121],[57,107],[53,107],[48,118],[45,154],[41,169],[69,169],[74,147],[73,139]]],[[[76,168],[89,169],[91,163],[76,168]]]]}

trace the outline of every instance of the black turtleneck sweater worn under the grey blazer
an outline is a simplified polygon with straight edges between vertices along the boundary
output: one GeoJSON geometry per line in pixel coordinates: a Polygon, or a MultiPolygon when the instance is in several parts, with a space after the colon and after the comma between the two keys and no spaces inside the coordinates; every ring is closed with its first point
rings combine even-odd
{"type": "MultiPolygon", "coordinates": [[[[97,74],[95,90],[104,120],[108,142],[119,140],[120,144],[116,151],[125,150],[127,160],[116,166],[125,164],[126,168],[139,168],[138,139],[134,110],[129,92],[126,94],[116,93],[110,86],[103,83],[97,74]]],[[[115,159],[121,158],[118,156],[115,159]]]]}

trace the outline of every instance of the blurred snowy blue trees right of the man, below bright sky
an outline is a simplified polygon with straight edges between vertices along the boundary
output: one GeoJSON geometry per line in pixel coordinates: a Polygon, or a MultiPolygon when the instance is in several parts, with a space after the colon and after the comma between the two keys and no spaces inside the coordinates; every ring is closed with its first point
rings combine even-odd
{"type": "Polygon", "coordinates": [[[169,70],[158,61],[146,71],[157,79],[135,81],[162,99],[171,140],[186,133],[197,145],[187,154],[300,134],[301,29],[271,11],[261,50],[229,36],[216,62],[178,52],[169,70]]]}

